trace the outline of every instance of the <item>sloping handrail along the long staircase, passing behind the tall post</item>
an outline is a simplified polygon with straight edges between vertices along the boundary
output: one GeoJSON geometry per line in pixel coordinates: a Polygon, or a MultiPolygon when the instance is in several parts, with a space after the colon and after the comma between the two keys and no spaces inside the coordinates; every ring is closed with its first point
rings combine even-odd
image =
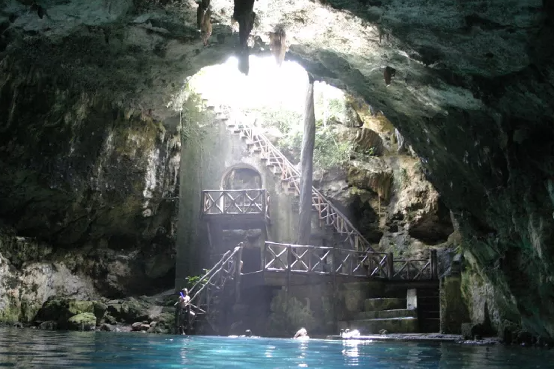
{"type": "MultiPolygon", "coordinates": [[[[296,192],[300,193],[300,188],[298,183],[298,180],[300,178],[300,172],[294,167],[292,163],[289,162],[289,160],[285,157],[285,155],[283,155],[283,153],[281,153],[280,150],[276,148],[275,145],[271,143],[263,133],[261,133],[258,127],[253,127],[253,126],[247,127],[247,124],[242,123],[242,124],[239,124],[239,127],[237,129],[239,129],[242,132],[245,132],[245,136],[247,136],[253,141],[252,144],[259,144],[260,142],[263,142],[268,148],[271,149],[271,153],[274,155],[274,158],[280,159],[281,162],[283,162],[286,170],[290,171],[291,172],[290,174],[293,174],[293,175],[285,176],[284,175],[285,173],[283,173],[283,176],[281,177],[281,179],[293,180],[294,188],[296,192]],[[256,132],[254,132],[254,130],[256,130],[256,132]],[[256,139],[255,136],[257,136],[260,139],[256,139]]],[[[269,159],[269,158],[266,158],[266,159],[269,159]]],[[[339,225],[336,224],[335,221],[332,221],[332,225],[335,227],[338,233],[348,233],[348,238],[350,238],[353,248],[355,248],[356,250],[359,250],[360,246],[363,246],[365,250],[375,252],[373,247],[371,247],[370,242],[367,241],[366,238],[362,236],[360,231],[358,231],[356,227],[352,225],[350,220],[348,220],[348,218],[344,214],[342,214],[342,212],[338,210],[335,205],[333,205],[329,200],[325,198],[324,195],[322,195],[314,186],[312,186],[312,206],[314,206],[318,210],[318,215],[320,217],[320,220],[322,220],[321,211],[319,209],[319,205],[321,205],[320,203],[322,205],[327,206],[328,209],[332,210],[334,214],[340,217],[343,225],[345,225],[344,227],[345,230],[343,231],[342,229],[339,229],[339,225]],[[352,235],[355,236],[354,240],[352,240],[351,238],[352,235]],[[360,241],[361,245],[358,245],[358,242],[357,242],[358,240],[360,241]]],[[[327,214],[329,214],[329,210],[327,210],[327,214]]],[[[331,225],[331,224],[328,224],[328,225],[331,225]]],[[[343,227],[340,227],[340,228],[343,228],[343,227]]]]}

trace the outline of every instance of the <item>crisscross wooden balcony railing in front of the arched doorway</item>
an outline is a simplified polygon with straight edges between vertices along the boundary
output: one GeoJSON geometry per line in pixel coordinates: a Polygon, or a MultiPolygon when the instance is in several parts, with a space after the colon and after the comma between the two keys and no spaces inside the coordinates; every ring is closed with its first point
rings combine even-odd
{"type": "Polygon", "coordinates": [[[263,188],[203,190],[202,214],[265,214],[269,217],[268,200],[268,193],[263,188]]]}

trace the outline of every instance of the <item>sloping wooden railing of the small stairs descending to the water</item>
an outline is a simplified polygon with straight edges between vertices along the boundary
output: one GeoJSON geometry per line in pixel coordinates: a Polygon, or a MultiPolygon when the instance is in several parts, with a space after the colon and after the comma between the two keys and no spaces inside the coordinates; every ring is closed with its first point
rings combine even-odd
{"type": "MultiPolygon", "coordinates": [[[[234,282],[234,294],[238,299],[242,250],[243,244],[240,243],[234,250],[225,252],[216,265],[209,269],[191,288],[189,291],[192,296],[190,304],[196,314],[189,316],[188,328],[193,326],[196,319],[204,316],[206,322],[217,332],[220,299],[230,282],[234,282]]],[[[222,308],[226,307],[222,306],[222,308]]]]}

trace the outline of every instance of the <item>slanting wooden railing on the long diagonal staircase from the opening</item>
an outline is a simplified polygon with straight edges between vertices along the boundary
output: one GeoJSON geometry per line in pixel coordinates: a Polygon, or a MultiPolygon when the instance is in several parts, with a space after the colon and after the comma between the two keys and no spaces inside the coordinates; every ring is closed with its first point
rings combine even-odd
{"type": "MultiPolygon", "coordinates": [[[[300,194],[300,173],[280,150],[256,127],[239,124],[235,129],[242,137],[249,140],[248,144],[260,153],[261,159],[265,160],[266,164],[276,165],[281,172],[281,180],[287,181],[294,188],[296,194],[300,194]]],[[[312,187],[312,206],[317,211],[320,223],[334,227],[339,235],[344,236],[343,242],[347,242],[354,250],[375,252],[370,242],[361,235],[347,217],[314,187],[312,187]]]]}

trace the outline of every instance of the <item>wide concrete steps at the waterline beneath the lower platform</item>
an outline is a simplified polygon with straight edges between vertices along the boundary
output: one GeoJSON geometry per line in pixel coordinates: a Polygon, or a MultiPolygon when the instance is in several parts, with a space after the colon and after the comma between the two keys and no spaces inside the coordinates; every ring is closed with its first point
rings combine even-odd
{"type": "Polygon", "coordinates": [[[401,298],[366,299],[363,311],[355,313],[352,320],[338,322],[338,328],[358,329],[362,335],[382,329],[389,333],[418,332],[417,310],[406,306],[406,299],[401,298]]]}

